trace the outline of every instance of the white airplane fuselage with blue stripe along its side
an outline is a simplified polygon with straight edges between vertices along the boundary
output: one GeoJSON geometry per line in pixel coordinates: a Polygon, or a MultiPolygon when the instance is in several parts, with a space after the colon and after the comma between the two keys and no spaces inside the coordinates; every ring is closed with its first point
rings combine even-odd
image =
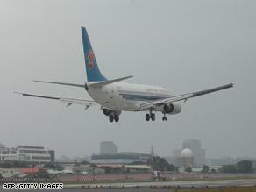
{"type": "MultiPolygon", "coordinates": [[[[95,82],[86,83],[90,85],[95,82]]],[[[126,82],[114,82],[101,88],[89,86],[87,91],[96,103],[110,110],[140,110],[142,103],[172,96],[164,88],[126,82]]]]}

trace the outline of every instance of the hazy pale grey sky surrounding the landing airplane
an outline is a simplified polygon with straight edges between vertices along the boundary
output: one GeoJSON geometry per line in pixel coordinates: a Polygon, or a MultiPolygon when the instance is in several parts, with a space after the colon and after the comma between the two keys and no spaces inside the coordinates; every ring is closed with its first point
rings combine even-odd
{"type": "Polygon", "coordinates": [[[53,148],[56,157],[119,152],[170,156],[185,139],[200,139],[207,158],[256,158],[255,1],[0,1],[0,143],[53,148]],[[12,94],[90,99],[85,89],[32,80],[86,81],[81,26],[108,79],[152,84],[174,96],[234,82],[188,99],[181,114],[123,112],[110,123],[100,106],[12,94]]]}

